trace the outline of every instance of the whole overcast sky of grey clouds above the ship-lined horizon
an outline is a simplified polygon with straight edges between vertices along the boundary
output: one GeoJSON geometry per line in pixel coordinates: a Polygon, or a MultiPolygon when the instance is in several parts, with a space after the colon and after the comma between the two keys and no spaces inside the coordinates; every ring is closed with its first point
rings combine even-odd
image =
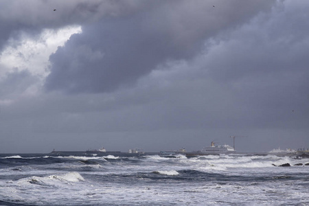
{"type": "Polygon", "coordinates": [[[2,0],[0,153],[309,148],[307,0],[2,0]]]}

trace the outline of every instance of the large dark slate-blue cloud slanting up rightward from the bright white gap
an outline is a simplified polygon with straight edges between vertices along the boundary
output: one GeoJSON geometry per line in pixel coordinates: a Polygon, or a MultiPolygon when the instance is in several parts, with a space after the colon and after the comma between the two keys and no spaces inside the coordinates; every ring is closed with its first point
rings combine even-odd
{"type": "Polygon", "coordinates": [[[67,93],[126,87],[166,60],[192,58],[207,38],[249,21],[273,2],[157,1],[126,16],[103,16],[50,57],[45,87],[67,93]]]}

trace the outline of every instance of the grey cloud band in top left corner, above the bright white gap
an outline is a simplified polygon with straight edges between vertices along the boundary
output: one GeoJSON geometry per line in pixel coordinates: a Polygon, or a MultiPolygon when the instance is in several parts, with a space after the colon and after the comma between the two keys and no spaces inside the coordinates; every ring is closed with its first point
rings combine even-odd
{"type": "Polygon", "coordinates": [[[124,16],[143,4],[130,0],[3,0],[0,3],[0,49],[8,44],[9,38],[21,38],[23,32],[34,36],[43,29],[91,23],[102,16],[124,16]]]}

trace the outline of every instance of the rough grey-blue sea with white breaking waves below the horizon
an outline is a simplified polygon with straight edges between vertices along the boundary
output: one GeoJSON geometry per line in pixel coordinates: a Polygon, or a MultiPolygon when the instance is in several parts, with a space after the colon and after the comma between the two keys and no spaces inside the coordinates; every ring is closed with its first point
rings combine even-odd
{"type": "Polygon", "coordinates": [[[309,205],[308,163],[253,154],[0,154],[0,205],[309,205]]]}

